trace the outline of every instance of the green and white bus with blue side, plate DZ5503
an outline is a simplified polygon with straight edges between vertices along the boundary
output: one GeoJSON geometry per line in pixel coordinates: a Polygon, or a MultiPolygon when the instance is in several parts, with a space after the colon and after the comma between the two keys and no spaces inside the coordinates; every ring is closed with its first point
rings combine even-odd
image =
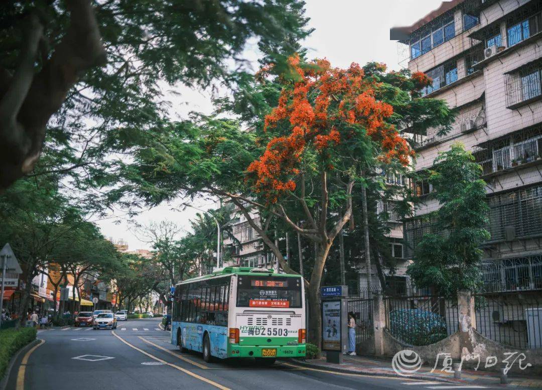
{"type": "Polygon", "coordinates": [[[305,287],[300,275],[225,267],[175,287],[171,343],[213,357],[305,356],[305,287]]]}

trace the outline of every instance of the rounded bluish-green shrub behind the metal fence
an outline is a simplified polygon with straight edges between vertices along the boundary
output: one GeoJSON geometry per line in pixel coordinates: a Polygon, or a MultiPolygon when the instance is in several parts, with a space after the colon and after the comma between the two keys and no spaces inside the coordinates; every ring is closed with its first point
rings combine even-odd
{"type": "Polygon", "coordinates": [[[397,339],[415,346],[433,344],[447,336],[444,318],[421,309],[391,311],[390,331],[397,339]]]}

